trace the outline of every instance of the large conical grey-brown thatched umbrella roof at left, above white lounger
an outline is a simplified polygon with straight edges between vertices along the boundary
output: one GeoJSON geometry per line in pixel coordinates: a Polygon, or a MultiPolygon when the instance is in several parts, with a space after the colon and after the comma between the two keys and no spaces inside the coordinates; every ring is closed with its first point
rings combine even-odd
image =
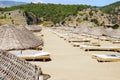
{"type": "Polygon", "coordinates": [[[0,26],[0,49],[2,50],[28,49],[40,45],[42,41],[24,27],[0,26]]]}

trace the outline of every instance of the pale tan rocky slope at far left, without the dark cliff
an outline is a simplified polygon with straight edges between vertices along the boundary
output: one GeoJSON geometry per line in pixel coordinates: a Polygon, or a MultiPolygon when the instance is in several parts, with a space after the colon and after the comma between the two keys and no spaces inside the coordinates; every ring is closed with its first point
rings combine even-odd
{"type": "Polygon", "coordinates": [[[2,24],[26,25],[27,24],[26,20],[27,16],[25,16],[24,11],[19,9],[14,11],[0,12],[0,25],[2,24]]]}

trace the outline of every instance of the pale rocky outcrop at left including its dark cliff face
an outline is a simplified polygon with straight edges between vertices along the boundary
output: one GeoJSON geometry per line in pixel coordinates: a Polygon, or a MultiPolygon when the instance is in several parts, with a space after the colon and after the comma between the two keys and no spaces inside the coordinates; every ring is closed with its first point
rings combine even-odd
{"type": "Polygon", "coordinates": [[[25,13],[23,10],[0,12],[0,24],[27,25],[37,24],[38,19],[32,13],[25,13]]]}

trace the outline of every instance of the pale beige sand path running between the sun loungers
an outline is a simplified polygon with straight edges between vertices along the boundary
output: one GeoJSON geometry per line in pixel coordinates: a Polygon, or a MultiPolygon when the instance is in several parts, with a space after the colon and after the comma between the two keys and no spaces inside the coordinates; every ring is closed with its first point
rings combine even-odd
{"type": "MultiPolygon", "coordinates": [[[[120,80],[120,62],[99,63],[91,54],[115,53],[109,51],[85,52],[43,29],[44,51],[51,53],[51,61],[32,61],[51,76],[48,80],[120,80]]],[[[106,42],[102,42],[107,44],[106,42]]]]}

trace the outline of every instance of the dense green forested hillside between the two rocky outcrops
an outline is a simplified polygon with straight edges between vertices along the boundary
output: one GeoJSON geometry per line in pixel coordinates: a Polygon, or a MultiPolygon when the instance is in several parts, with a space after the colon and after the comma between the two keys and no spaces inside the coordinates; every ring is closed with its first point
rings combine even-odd
{"type": "Polygon", "coordinates": [[[25,12],[32,12],[43,21],[53,21],[58,23],[65,17],[76,15],[79,10],[90,8],[88,5],[62,5],[62,4],[26,4],[13,6],[9,8],[0,8],[0,11],[11,11],[15,9],[23,9],[25,12]]]}

